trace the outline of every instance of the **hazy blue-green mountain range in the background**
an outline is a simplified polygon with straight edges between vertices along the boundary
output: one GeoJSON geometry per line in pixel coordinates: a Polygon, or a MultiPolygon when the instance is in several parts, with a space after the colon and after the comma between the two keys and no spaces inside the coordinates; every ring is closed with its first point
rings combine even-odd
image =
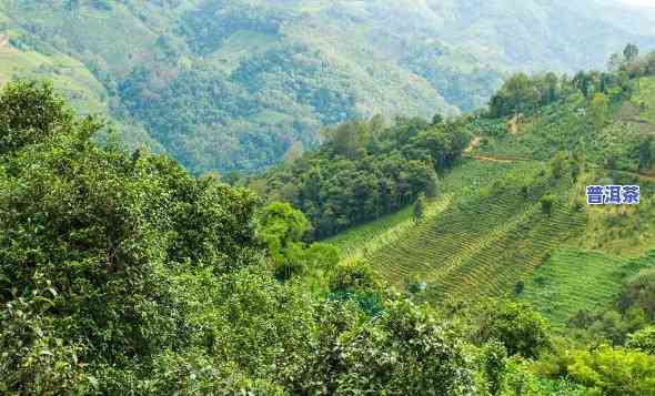
{"type": "Polygon", "coordinates": [[[655,47],[654,21],[596,0],[0,0],[0,81],[53,79],[192,172],[256,171],[324,125],[457,114],[512,71],[602,68],[655,47]]]}

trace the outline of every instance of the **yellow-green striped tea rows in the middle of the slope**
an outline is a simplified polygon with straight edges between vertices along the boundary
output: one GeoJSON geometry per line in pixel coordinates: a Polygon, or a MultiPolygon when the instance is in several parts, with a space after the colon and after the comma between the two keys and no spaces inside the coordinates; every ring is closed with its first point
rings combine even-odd
{"type": "Polygon", "coordinates": [[[547,216],[514,191],[453,207],[367,260],[401,288],[425,283],[430,299],[501,295],[584,226],[583,213],[556,205],[547,216]]]}

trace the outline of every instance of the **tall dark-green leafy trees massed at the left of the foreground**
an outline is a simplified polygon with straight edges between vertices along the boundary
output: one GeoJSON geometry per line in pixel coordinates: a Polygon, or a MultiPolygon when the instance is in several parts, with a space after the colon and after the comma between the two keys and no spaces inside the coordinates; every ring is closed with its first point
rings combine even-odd
{"type": "Polygon", "coordinates": [[[133,393],[143,365],[193,339],[168,272],[256,263],[256,200],[97,145],[102,124],[73,119],[48,88],[11,83],[0,102],[0,343],[13,351],[3,390],[133,393]]]}

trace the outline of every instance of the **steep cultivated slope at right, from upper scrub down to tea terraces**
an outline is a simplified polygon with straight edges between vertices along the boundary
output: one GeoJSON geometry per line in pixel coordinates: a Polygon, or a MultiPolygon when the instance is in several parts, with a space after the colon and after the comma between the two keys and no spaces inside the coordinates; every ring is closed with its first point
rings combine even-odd
{"type": "Polygon", "coordinates": [[[653,78],[625,92],[603,112],[601,92],[570,92],[531,114],[472,121],[477,136],[441,180],[434,215],[413,224],[407,209],[328,242],[419,298],[512,295],[557,325],[606,307],[655,266],[653,78]],[[641,202],[587,206],[592,184],[639,185],[641,202]]]}

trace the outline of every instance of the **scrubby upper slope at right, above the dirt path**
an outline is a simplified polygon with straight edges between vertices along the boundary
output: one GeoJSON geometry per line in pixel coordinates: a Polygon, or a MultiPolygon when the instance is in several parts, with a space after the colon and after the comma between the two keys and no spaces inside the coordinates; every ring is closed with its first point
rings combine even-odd
{"type": "Polygon", "coordinates": [[[612,72],[570,79],[510,79],[492,99],[490,118],[478,123],[477,153],[546,160],[557,151],[584,152],[594,166],[648,173],[655,166],[655,53],[615,54],[609,63],[612,72]]]}

